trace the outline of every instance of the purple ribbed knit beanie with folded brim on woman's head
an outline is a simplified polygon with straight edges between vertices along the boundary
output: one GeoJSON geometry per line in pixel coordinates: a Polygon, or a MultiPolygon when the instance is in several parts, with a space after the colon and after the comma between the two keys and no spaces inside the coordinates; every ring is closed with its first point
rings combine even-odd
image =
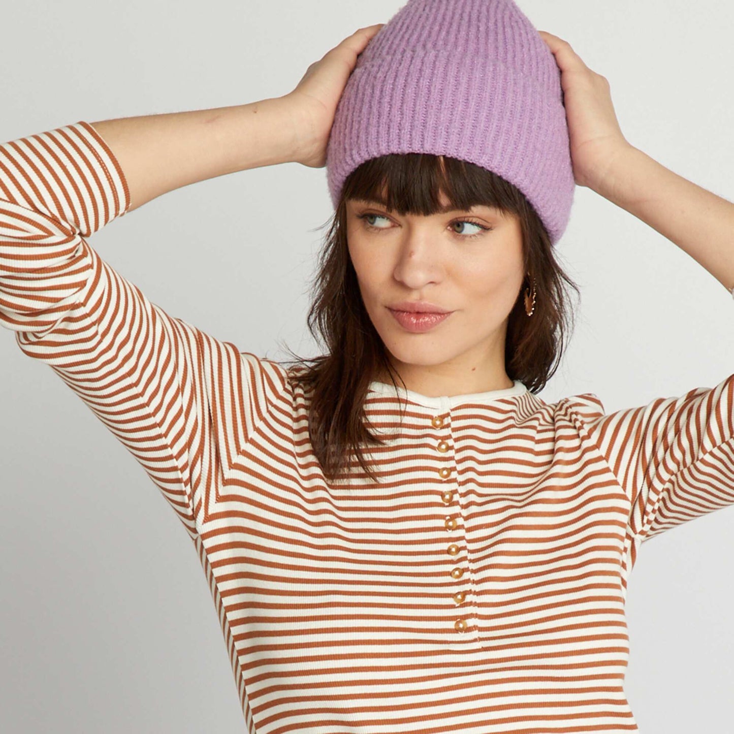
{"type": "Polygon", "coordinates": [[[575,181],[561,71],[512,0],[408,0],[372,37],[339,100],[327,145],[334,207],[355,168],[433,153],[520,189],[556,244],[575,181]]]}

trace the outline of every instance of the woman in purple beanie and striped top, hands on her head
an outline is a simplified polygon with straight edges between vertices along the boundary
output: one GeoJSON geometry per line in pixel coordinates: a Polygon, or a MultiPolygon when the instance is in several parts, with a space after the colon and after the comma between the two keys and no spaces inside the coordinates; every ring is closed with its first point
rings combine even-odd
{"type": "Polygon", "coordinates": [[[250,732],[636,729],[628,574],[642,542],[734,502],[734,375],[610,415],[537,396],[575,184],[734,284],[734,205],[629,145],[606,79],[509,1],[411,0],[283,98],[1,147],[0,320],[177,513],[250,732]],[[286,161],[326,165],[335,203],[319,359],[239,352],[84,239],[286,161]]]}

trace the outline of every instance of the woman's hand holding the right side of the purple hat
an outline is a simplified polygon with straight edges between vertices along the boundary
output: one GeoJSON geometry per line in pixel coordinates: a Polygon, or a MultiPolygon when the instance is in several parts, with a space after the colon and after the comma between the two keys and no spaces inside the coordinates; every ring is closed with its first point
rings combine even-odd
{"type": "Polygon", "coordinates": [[[619,128],[609,82],[589,69],[570,43],[552,33],[539,34],[561,70],[573,177],[579,186],[608,191],[614,160],[619,153],[633,148],[619,128]]]}

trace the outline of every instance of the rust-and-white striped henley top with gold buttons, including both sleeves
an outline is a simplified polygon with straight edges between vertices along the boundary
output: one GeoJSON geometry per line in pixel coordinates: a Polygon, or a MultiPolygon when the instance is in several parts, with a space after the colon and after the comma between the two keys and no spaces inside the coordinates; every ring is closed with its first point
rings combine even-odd
{"type": "Polygon", "coordinates": [[[1,145],[0,323],[181,520],[247,731],[637,730],[628,575],[645,540],[734,502],[734,375],[611,414],[520,381],[373,382],[380,482],[330,483],[291,372],[170,316],[87,243],[129,206],[89,123],[1,145]]]}

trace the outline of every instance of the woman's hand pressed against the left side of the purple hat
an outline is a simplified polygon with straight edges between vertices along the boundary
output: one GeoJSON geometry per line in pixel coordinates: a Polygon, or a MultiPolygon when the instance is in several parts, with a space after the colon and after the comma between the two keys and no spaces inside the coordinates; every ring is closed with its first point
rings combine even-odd
{"type": "Polygon", "coordinates": [[[299,137],[299,153],[294,162],[311,168],[326,165],[326,150],[334,123],[336,107],[346,82],[364,51],[385,23],[360,28],[338,46],[313,62],[298,86],[283,100],[292,106],[294,124],[299,137]]]}

